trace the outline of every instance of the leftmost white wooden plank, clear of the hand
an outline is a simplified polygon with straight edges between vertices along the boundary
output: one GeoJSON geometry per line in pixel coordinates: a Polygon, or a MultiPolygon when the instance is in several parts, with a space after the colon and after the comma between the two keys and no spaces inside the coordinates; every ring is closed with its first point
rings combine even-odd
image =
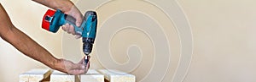
{"type": "Polygon", "coordinates": [[[51,74],[50,69],[38,68],[27,71],[26,73],[20,74],[20,82],[40,82],[46,79],[51,74]]]}

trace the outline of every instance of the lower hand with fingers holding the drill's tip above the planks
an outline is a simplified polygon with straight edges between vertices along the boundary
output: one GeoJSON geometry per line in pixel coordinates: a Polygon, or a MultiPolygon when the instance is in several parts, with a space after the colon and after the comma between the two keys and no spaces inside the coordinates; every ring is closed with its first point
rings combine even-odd
{"type": "Polygon", "coordinates": [[[61,72],[75,75],[84,74],[88,70],[88,68],[84,67],[84,58],[79,63],[73,63],[66,59],[59,59],[54,67],[61,72]]]}

